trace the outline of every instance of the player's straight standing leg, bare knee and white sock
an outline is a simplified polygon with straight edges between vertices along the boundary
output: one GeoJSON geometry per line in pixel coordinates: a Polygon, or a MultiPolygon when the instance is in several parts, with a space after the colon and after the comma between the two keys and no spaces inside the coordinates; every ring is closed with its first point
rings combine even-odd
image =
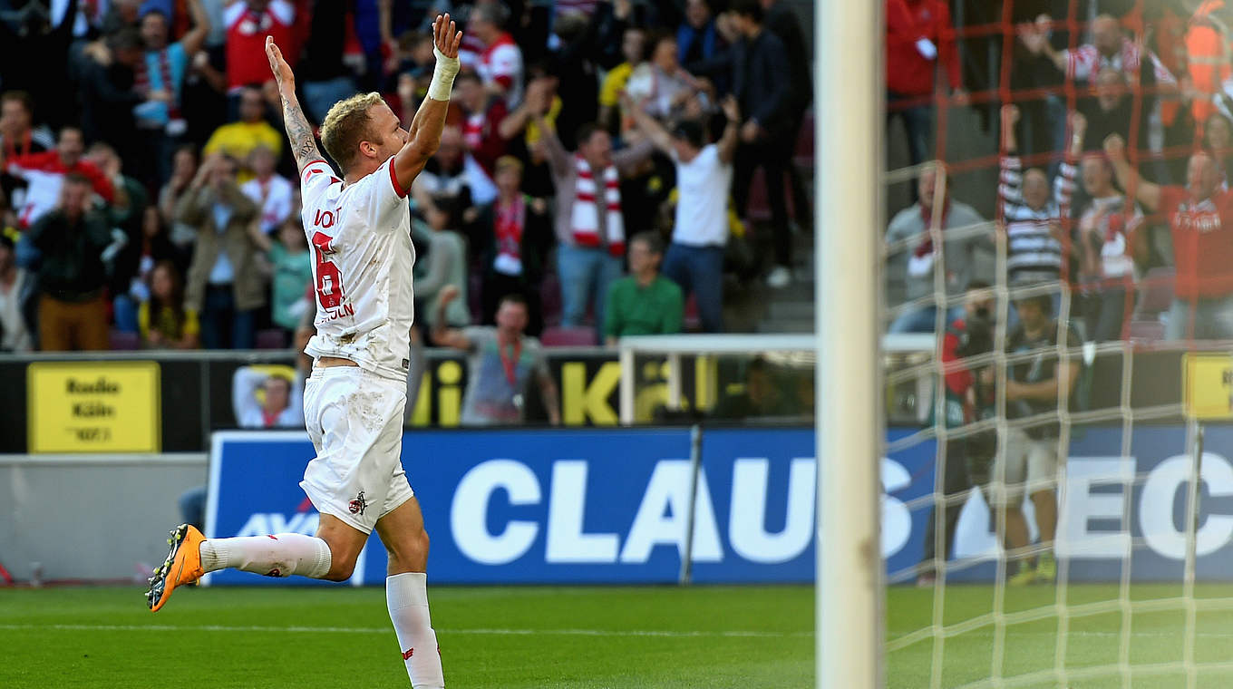
{"type": "MultiPolygon", "coordinates": [[[[401,471],[397,478],[406,489],[403,492],[399,487],[397,492],[391,491],[390,503],[411,492],[401,471]]],[[[390,556],[386,605],[390,609],[390,621],[398,635],[398,650],[407,664],[407,675],[416,689],[443,688],[445,675],[441,671],[441,652],[428,611],[428,576],[424,572],[428,562],[428,532],[424,530],[419,502],[409,497],[382,516],[377,521],[377,535],[390,556]]]]}

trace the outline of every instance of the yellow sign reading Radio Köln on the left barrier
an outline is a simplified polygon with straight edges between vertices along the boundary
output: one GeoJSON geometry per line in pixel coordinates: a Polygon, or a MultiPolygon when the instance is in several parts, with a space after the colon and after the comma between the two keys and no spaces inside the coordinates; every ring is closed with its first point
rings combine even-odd
{"type": "Polygon", "coordinates": [[[155,361],[48,361],[26,369],[31,454],[158,452],[155,361]]]}

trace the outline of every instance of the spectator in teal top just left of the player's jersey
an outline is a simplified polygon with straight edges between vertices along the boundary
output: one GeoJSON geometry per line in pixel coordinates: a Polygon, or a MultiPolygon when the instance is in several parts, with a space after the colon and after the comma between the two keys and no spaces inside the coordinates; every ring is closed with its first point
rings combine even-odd
{"type": "Polygon", "coordinates": [[[305,290],[312,285],[312,254],[308,251],[303,224],[297,216],[287,217],[279,226],[277,242],[270,239],[270,233],[260,226],[248,227],[253,244],[265,251],[265,258],[274,269],[270,281],[270,319],[291,335],[305,312],[316,313],[316,303],[305,296],[305,290]]]}

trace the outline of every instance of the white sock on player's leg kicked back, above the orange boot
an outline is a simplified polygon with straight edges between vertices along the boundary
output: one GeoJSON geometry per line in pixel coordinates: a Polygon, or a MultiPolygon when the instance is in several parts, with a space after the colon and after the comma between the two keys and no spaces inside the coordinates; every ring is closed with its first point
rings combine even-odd
{"type": "Polygon", "coordinates": [[[303,534],[201,541],[201,567],[206,572],[234,567],[266,577],[300,574],[319,579],[329,572],[329,545],[303,534]]]}

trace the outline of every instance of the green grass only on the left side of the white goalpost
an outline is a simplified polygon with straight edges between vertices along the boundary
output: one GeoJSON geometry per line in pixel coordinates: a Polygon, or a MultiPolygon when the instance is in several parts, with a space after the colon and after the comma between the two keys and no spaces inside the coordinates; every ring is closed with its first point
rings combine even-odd
{"type": "MultiPolygon", "coordinates": [[[[813,685],[813,587],[429,598],[451,689],[813,685]]],[[[0,589],[5,689],[407,685],[381,588],[190,589],[158,614],[136,588],[0,589]]]]}

